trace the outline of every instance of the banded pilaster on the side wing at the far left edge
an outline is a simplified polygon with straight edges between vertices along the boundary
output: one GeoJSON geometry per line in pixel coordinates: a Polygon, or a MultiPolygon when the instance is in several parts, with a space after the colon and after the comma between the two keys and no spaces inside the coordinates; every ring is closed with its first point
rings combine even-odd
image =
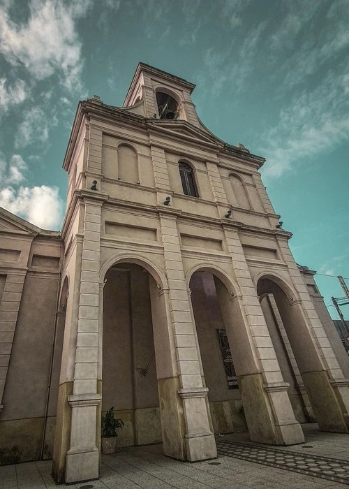
{"type": "Polygon", "coordinates": [[[26,270],[10,270],[0,304],[0,414],[26,270]]]}

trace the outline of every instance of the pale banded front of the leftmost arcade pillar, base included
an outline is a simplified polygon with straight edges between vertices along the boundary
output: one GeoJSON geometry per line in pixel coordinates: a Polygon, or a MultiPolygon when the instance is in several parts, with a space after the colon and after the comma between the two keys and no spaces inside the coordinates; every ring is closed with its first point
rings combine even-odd
{"type": "Polygon", "coordinates": [[[100,303],[100,240],[103,200],[85,198],[84,240],[71,407],[70,448],[66,455],[66,482],[96,479],[99,474],[97,407],[98,331],[100,303]]]}

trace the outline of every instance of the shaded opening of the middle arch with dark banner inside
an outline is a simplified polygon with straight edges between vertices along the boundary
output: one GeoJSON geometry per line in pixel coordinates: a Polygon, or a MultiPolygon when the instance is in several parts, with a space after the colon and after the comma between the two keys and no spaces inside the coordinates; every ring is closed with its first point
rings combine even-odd
{"type": "MultiPolygon", "coordinates": [[[[231,293],[211,270],[198,270],[190,280],[198,344],[209,388],[209,407],[215,433],[247,429],[239,390],[239,311],[231,316],[231,293]]],[[[233,305],[233,307],[235,307],[233,305]]]]}

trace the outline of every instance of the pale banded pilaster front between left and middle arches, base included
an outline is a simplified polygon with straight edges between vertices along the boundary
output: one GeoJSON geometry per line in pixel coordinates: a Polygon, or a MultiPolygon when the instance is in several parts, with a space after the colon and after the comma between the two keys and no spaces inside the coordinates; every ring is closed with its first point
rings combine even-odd
{"type": "Polygon", "coordinates": [[[186,289],[176,220],[175,215],[160,214],[165,272],[168,277],[168,300],[170,302],[174,349],[179,374],[177,396],[179,395],[181,399],[181,409],[184,412],[184,443],[186,448],[184,458],[194,461],[214,458],[217,452],[206,402],[208,390],[202,385],[202,372],[186,289]]]}

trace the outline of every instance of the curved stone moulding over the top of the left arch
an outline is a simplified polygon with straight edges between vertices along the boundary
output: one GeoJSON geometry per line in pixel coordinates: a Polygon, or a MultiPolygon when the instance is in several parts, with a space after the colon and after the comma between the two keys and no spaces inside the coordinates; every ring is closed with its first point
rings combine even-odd
{"type": "Polygon", "coordinates": [[[136,265],[140,265],[140,267],[147,270],[151,277],[154,278],[158,288],[168,289],[168,282],[164,272],[159,270],[157,265],[149,260],[149,258],[144,258],[144,256],[140,258],[134,253],[122,253],[107,258],[107,260],[101,266],[101,270],[99,272],[99,279],[101,283],[104,282],[107,271],[119,263],[135,263],[136,265]]]}

